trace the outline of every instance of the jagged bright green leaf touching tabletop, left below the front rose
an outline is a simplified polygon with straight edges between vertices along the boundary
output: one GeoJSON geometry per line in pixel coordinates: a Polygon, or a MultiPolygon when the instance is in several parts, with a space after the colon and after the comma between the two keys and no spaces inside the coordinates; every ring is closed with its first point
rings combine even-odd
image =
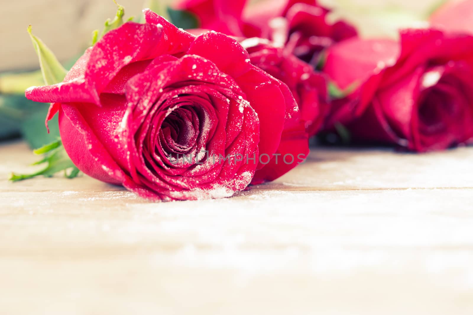
{"type": "Polygon", "coordinates": [[[36,154],[44,154],[44,158],[32,165],[40,165],[47,163],[47,166],[37,172],[31,174],[15,174],[11,173],[9,180],[19,181],[24,179],[34,178],[43,175],[45,177],[52,177],[55,173],[64,170],[64,176],[67,178],[74,178],[79,174],[79,170],[74,166],[69,156],[67,155],[61,140],[57,139],[48,145],[34,151],[36,154]],[[67,173],[70,170],[70,173],[67,173]]]}

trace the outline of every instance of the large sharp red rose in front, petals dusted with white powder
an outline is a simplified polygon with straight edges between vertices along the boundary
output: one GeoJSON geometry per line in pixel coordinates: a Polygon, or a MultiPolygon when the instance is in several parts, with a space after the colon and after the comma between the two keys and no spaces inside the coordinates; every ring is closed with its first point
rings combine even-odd
{"type": "Polygon", "coordinates": [[[289,88],[253,66],[236,40],[195,37],[144,13],[145,24],[105,34],[63,83],[26,91],[53,102],[48,119],[59,111],[80,170],[153,200],[201,199],[283,175],[300,161],[275,163],[274,154],[292,146],[305,157],[289,88]]]}

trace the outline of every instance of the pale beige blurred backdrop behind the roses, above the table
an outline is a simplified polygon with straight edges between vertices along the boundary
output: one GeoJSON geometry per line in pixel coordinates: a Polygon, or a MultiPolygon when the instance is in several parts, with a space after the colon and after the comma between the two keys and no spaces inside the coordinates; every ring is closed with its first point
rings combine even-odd
{"type": "MultiPolygon", "coordinates": [[[[164,0],[172,2],[171,0],[164,0]]],[[[395,35],[395,26],[413,25],[441,0],[322,0],[340,8],[335,16],[360,26],[362,34],[395,35]]],[[[128,17],[139,16],[145,0],[121,0],[128,17]]],[[[15,0],[2,1],[0,10],[0,71],[38,66],[26,26],[66,61],[86,47],[91,32],[113,17],[112,0],[15,0]]]]}

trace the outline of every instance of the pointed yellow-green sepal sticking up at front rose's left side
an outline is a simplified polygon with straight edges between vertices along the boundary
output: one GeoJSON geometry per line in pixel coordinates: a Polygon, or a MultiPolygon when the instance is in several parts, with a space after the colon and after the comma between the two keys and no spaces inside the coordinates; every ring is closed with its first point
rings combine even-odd
{"type": "Polygon", "coordinates": [[[62,82],[66,76],[67,70],[62,67],[61,63],[54,56],[51,51],[39,38],[37,38],[31,32],[31,25],[27,28],[28,34],[30,34],[31,41],[35,47],[36,54],[39,58],[39,65],[41,67],[41,73],[43,75],[44,83],[46,85],[52,85],[62,82]]]}

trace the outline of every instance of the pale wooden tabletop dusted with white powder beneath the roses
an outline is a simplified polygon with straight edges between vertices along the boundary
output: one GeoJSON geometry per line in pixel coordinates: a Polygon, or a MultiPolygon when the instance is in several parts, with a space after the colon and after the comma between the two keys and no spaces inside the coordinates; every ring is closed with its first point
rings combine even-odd
{"type": "MultiPolygon", "coordinates": [[[[0,177],[27,171],[0,146],[0,177]]],[[[473,148],[314,148],[234,198],[0,181],[0,314],[473,314],[473,148]]]]}

